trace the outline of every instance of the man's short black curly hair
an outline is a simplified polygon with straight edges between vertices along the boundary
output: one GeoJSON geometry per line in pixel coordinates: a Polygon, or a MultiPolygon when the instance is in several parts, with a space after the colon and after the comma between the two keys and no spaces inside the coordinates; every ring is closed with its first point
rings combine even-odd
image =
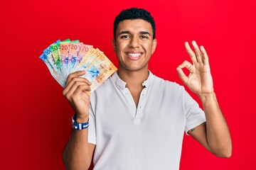
{"type": "Polygon", "coordinates": [[[153,30],[153,40],[156,37],[156,26],[154,18],[151,16],[149,11],[146,11],[143,8],[127,8],[122,10],[116,18],[114,18],[114,40],[116,39],[117,26],[121,21],[129,19],[143,19],[151,24],[153,30]]]}

